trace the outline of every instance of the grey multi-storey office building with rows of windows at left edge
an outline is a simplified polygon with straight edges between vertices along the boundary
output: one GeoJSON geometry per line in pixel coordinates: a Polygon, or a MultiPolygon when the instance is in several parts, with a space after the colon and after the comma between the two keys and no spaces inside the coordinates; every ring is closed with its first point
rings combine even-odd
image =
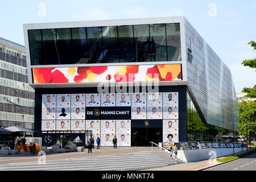
{"type": "Polygon", "coordinates": [[[34,129],[34,89],[28,84],[25,47],[0,38],[0,126],[34,129]]]}

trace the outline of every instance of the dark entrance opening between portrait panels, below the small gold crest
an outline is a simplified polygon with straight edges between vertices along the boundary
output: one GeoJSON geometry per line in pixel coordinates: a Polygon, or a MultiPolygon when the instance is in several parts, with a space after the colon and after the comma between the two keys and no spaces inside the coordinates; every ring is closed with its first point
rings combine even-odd
{"type": "Polygon", "coordinates": [[[151,146],[150,142],[162,142],[162,127],[132,128],[131,146],[151,146]]]}

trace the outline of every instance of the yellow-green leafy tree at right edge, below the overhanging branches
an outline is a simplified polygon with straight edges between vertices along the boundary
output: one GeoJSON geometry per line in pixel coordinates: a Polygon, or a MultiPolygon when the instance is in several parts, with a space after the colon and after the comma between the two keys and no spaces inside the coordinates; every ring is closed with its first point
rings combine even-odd
{"type": "Polygon", "coordinates": [[[251,133],[255,133],[256,131],[256,102],[254,101],[242,101],[239,103],[239,130],[242,135],[246,136],[246,130],[248,123],[248,131],[249,124],[251,124],[250,131],[251,133]]]}

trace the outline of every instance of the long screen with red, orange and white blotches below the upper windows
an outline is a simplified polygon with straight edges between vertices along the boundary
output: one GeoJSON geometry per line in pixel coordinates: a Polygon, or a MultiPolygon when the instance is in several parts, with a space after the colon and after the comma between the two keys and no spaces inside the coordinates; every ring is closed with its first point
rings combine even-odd
{"type": "Polygon", "coordinates": [[[34,84],[182,80],[181,64],[32,68],[34,84]]]}

